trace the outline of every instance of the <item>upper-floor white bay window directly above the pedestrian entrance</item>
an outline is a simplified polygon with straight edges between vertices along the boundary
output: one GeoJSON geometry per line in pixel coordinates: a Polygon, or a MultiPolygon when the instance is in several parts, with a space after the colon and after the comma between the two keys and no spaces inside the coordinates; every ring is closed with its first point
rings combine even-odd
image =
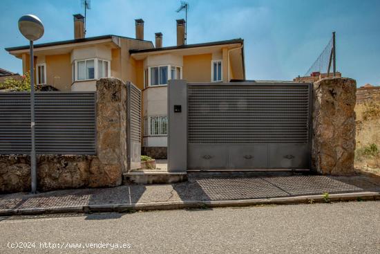
{"type": "Polygon", "coordinates": [[[162,66],[149,66],[144,71],[144,84],[145,87],[167,85],[168,80],[180,80],[182,78],[182,67],[162,65],[162,66]]]}

